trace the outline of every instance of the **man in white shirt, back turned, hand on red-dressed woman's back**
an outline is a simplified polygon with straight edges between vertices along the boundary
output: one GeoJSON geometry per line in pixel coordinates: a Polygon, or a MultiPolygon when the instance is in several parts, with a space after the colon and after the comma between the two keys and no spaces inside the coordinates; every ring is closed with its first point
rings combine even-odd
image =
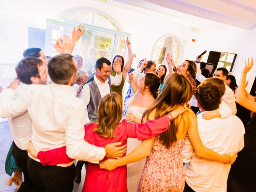
{"type": "MultiPolygon", "coordinates": [[[[31,85],[13,102],[15,91],[11,87],[4,89],[0,96],[0,116],[14,117],[28,112],[32,120],[32,142],[38,152],[66,146],[67,155],[73,159],[98,163],[105,155],[115,158],[120,151],[113,149],[113,144],[102,148],[84,141],[86,107],[71,87],[77,71],[72,55],[53,57],[48,63],[52,84],[31,85]]],[[[36,191],[72,191],[74,161],[42,166],[38,158],[28,156],[28,170],[36,191]]]]}

